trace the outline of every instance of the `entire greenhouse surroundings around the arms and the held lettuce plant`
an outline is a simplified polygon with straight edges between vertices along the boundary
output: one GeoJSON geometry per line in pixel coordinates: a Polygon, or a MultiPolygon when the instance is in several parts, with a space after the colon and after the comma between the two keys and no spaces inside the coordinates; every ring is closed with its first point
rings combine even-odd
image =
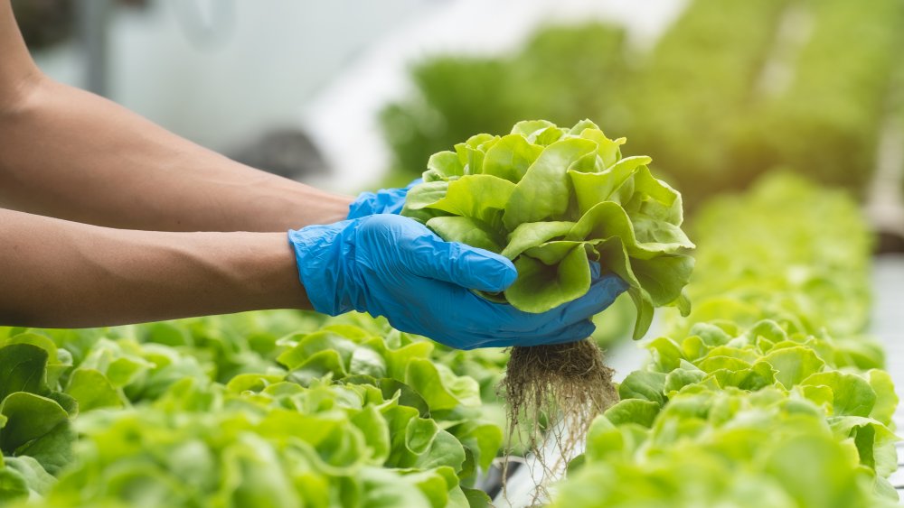
{"type": "Polygon", "coordinates": [[[621,400],[551,472],[506,449],[502,349],[290,310],[0,328],[0,505],[900,503],[900,0],[13,4],[53,79],[347,194],[589,119],[697,248],[689,315],[594,319],[621,400]]]}

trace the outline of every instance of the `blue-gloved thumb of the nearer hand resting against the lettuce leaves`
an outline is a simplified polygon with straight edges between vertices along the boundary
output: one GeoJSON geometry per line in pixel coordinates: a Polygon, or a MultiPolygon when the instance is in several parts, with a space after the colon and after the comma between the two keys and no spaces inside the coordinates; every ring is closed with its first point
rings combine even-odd
{"type": "Polygon", "coordinates": [[[411,273],[471,290],[491,292],[503,291],[518,276],[514,264],[507,258],[470,245],[444,242],[426,227],[424,229],[429,235],[400,244],[411,273]]]}

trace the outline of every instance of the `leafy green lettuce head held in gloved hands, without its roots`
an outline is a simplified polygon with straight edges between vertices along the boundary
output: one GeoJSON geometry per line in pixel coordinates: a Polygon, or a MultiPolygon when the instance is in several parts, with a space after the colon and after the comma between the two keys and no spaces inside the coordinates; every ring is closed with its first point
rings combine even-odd
{"type": "Polygon", "coordinates": [[[589,120],[570,129],[524,121],[504,136],[477,134],[430,157],[402,215],[513,260],[518,279],[504,295],[485,296],[527,312],[584,295],[588,260],[598,261],[629,284],[640,338],[654,307],[690,311],[682,290],[693,259],[682,252],[694,245],[681,229],[681,195],[654,178],[649,157],[622,157],[623,143],[589,120]]]}

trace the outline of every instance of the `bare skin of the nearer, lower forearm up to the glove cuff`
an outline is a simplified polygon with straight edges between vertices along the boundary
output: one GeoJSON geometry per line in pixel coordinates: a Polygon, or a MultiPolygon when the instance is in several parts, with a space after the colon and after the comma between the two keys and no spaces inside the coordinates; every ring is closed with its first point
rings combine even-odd
{"type": "Polygon", "coordinates": [[[159,233],[0,209],[0,325],[309,308],[282,233],[159,233]]]}

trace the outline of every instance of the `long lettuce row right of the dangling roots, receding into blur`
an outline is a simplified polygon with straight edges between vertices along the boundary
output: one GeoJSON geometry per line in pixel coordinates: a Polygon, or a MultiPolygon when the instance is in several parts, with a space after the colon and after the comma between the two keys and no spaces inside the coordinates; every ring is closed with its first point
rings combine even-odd
{"type": "Polygon", "coordinates": [[[894,505],[899,401],[880,347],[857,337],[870,241],[853,208],[776,176],[704,209],[689,286],[702,304],[645,344],[649,364],[594,422],[555,504],[894,505]]]}

